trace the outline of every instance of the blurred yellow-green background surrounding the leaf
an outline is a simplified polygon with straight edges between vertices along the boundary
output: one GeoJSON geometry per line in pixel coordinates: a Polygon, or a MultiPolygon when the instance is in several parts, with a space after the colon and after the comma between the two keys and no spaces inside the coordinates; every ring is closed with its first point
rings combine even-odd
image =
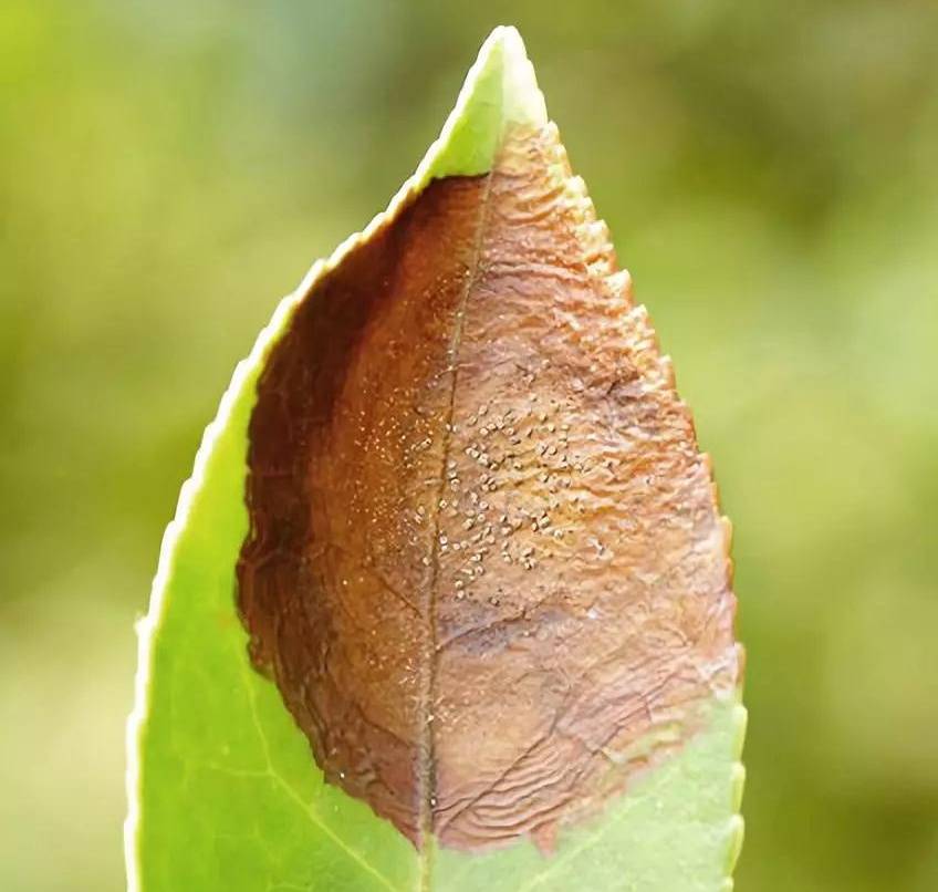
{"type": "Polygon", "coordinates": [[[738,888],[938,889],[938,4],[913,0],[3,0],[0,889],[123,886],[132,626],[201,429],[500,22],[736,525],[738,888]]]}

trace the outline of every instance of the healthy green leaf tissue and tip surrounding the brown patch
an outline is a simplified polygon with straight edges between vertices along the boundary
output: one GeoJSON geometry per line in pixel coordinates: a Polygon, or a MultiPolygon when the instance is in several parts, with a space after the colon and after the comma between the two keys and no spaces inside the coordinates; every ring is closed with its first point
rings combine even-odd
{"type": "MultiPolygon", "coordinates": [[[[431,178],[487,173],[504,128],[546,121],[520,39],[497,29],[440,138],[392,201],[431,178]]],[[[376,218],[362,237],[367,237],[376,218]]],[[[234,611],[248,530],[248,424],[265,356],[290,311],[356,237],[284,299],[209,426],[164,541],[140,626],[128,729],[132,890],[725,890],[739,848],[746,713],[712,698],[699,732],[544,854],[418,853],[389,822],[327,785],[277,687],[257,674],[234,611]]]]}

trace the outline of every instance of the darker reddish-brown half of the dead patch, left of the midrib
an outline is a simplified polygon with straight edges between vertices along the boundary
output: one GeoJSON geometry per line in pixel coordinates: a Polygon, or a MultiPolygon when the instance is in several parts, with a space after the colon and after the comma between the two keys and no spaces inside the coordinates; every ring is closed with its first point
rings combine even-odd
{"type": "Polygon", "coordinates": [[[250,425],[238,579],[252,657],[327,778],[411,839],[448,333],[483,188],[430,184],[315,284],[250,425]]]}

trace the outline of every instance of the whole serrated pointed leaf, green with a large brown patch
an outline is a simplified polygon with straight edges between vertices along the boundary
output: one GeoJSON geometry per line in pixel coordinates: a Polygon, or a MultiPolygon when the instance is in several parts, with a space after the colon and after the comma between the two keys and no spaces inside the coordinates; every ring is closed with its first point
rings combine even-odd
{"type": "Polygon", "coordinates": [[[139,627],[129,889],[730,889],[728,538],[497,29],[206,431],[139,627]]]}

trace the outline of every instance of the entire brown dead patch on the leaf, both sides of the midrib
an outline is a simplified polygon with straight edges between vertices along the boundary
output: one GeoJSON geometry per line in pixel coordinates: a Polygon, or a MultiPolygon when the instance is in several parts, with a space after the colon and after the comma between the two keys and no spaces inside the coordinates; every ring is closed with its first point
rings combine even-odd
{"type": "Polygon", "coordinates": [[[550,848],[738,683],[709,463],[552,126],[313,286],[247,497],[251,657],[418,847],[550,848]]]}

